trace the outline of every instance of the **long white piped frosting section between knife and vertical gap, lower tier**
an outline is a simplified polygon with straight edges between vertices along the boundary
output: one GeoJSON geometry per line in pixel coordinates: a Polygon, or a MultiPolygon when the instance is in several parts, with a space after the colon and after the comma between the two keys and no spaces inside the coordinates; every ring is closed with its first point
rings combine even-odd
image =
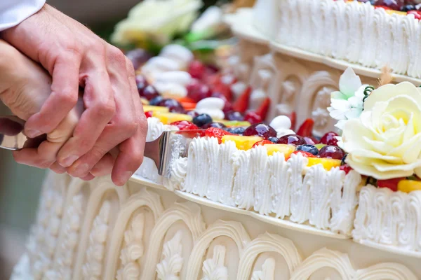
{"type": "Polygon", "coordinates": [[[241,151],[232,141],[199,138],[192,140],[187,160],[175,162],[171,181],[209,200],[351,235],[361,176],[306,166],[300,154],[286,162],[281,153],[268,156],[264,146],[241,151]]]}

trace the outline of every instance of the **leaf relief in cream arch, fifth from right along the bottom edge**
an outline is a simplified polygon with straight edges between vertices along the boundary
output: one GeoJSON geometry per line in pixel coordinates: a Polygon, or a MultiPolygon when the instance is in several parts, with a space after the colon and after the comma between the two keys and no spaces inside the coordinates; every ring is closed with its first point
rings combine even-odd
{"type": "Polygon", "coordinates": [[[82,267],[83,279],[101,279],[105,256],[105,242],[109,230],[109,213],[111,202],[105,200],[100,213],[95,217],[91,233],[89,235],[88,248],[86,250],[86,262],[82,267]]]}

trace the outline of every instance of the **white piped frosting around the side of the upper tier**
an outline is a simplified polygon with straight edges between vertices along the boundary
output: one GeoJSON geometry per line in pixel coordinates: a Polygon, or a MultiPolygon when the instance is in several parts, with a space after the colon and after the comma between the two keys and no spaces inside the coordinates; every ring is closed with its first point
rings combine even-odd
{"type": "Polygon", "coordinates": [[[388,65],[394,73],[421,78],[420,21],[389,15],[369,1],[260,0],[253,25],[283,45],[375,69],[388,65]]]}

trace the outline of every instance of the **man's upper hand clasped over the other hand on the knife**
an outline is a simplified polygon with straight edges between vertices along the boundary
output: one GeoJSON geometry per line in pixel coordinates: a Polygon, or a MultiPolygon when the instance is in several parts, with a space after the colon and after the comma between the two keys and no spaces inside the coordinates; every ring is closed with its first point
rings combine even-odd
{"type": "Polygon", "coordinates": [[[147,132],[131,62],[118,48],[48,5],[4,31],[3,38],[53,77],[51,96],[28,119],[25,133],[36,137],[57,128],[76,105],[81,86],[85,111],[58,153],[58,162],[81,178],[112,168],[114,183],[126,183],[142,163],[147,132]],[[116,158],[107,154],[114,147],[119,151],[116,158]],[[93,167],[102,158],[99,172],[93,167]]]}

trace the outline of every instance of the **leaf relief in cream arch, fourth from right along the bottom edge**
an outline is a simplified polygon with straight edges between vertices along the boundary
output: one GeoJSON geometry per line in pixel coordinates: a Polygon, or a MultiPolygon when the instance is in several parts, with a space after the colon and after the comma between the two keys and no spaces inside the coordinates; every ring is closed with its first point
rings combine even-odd
{"type": "Polygon", "coordinates": [[[116,279],[138,279],[140,266],[138,261],[144,255],[143,233],[145,214],[140,213],[133,218],[130,228],[124,232],[124,245],[121,249],[121,267],[117,271],[116,279]]]}

